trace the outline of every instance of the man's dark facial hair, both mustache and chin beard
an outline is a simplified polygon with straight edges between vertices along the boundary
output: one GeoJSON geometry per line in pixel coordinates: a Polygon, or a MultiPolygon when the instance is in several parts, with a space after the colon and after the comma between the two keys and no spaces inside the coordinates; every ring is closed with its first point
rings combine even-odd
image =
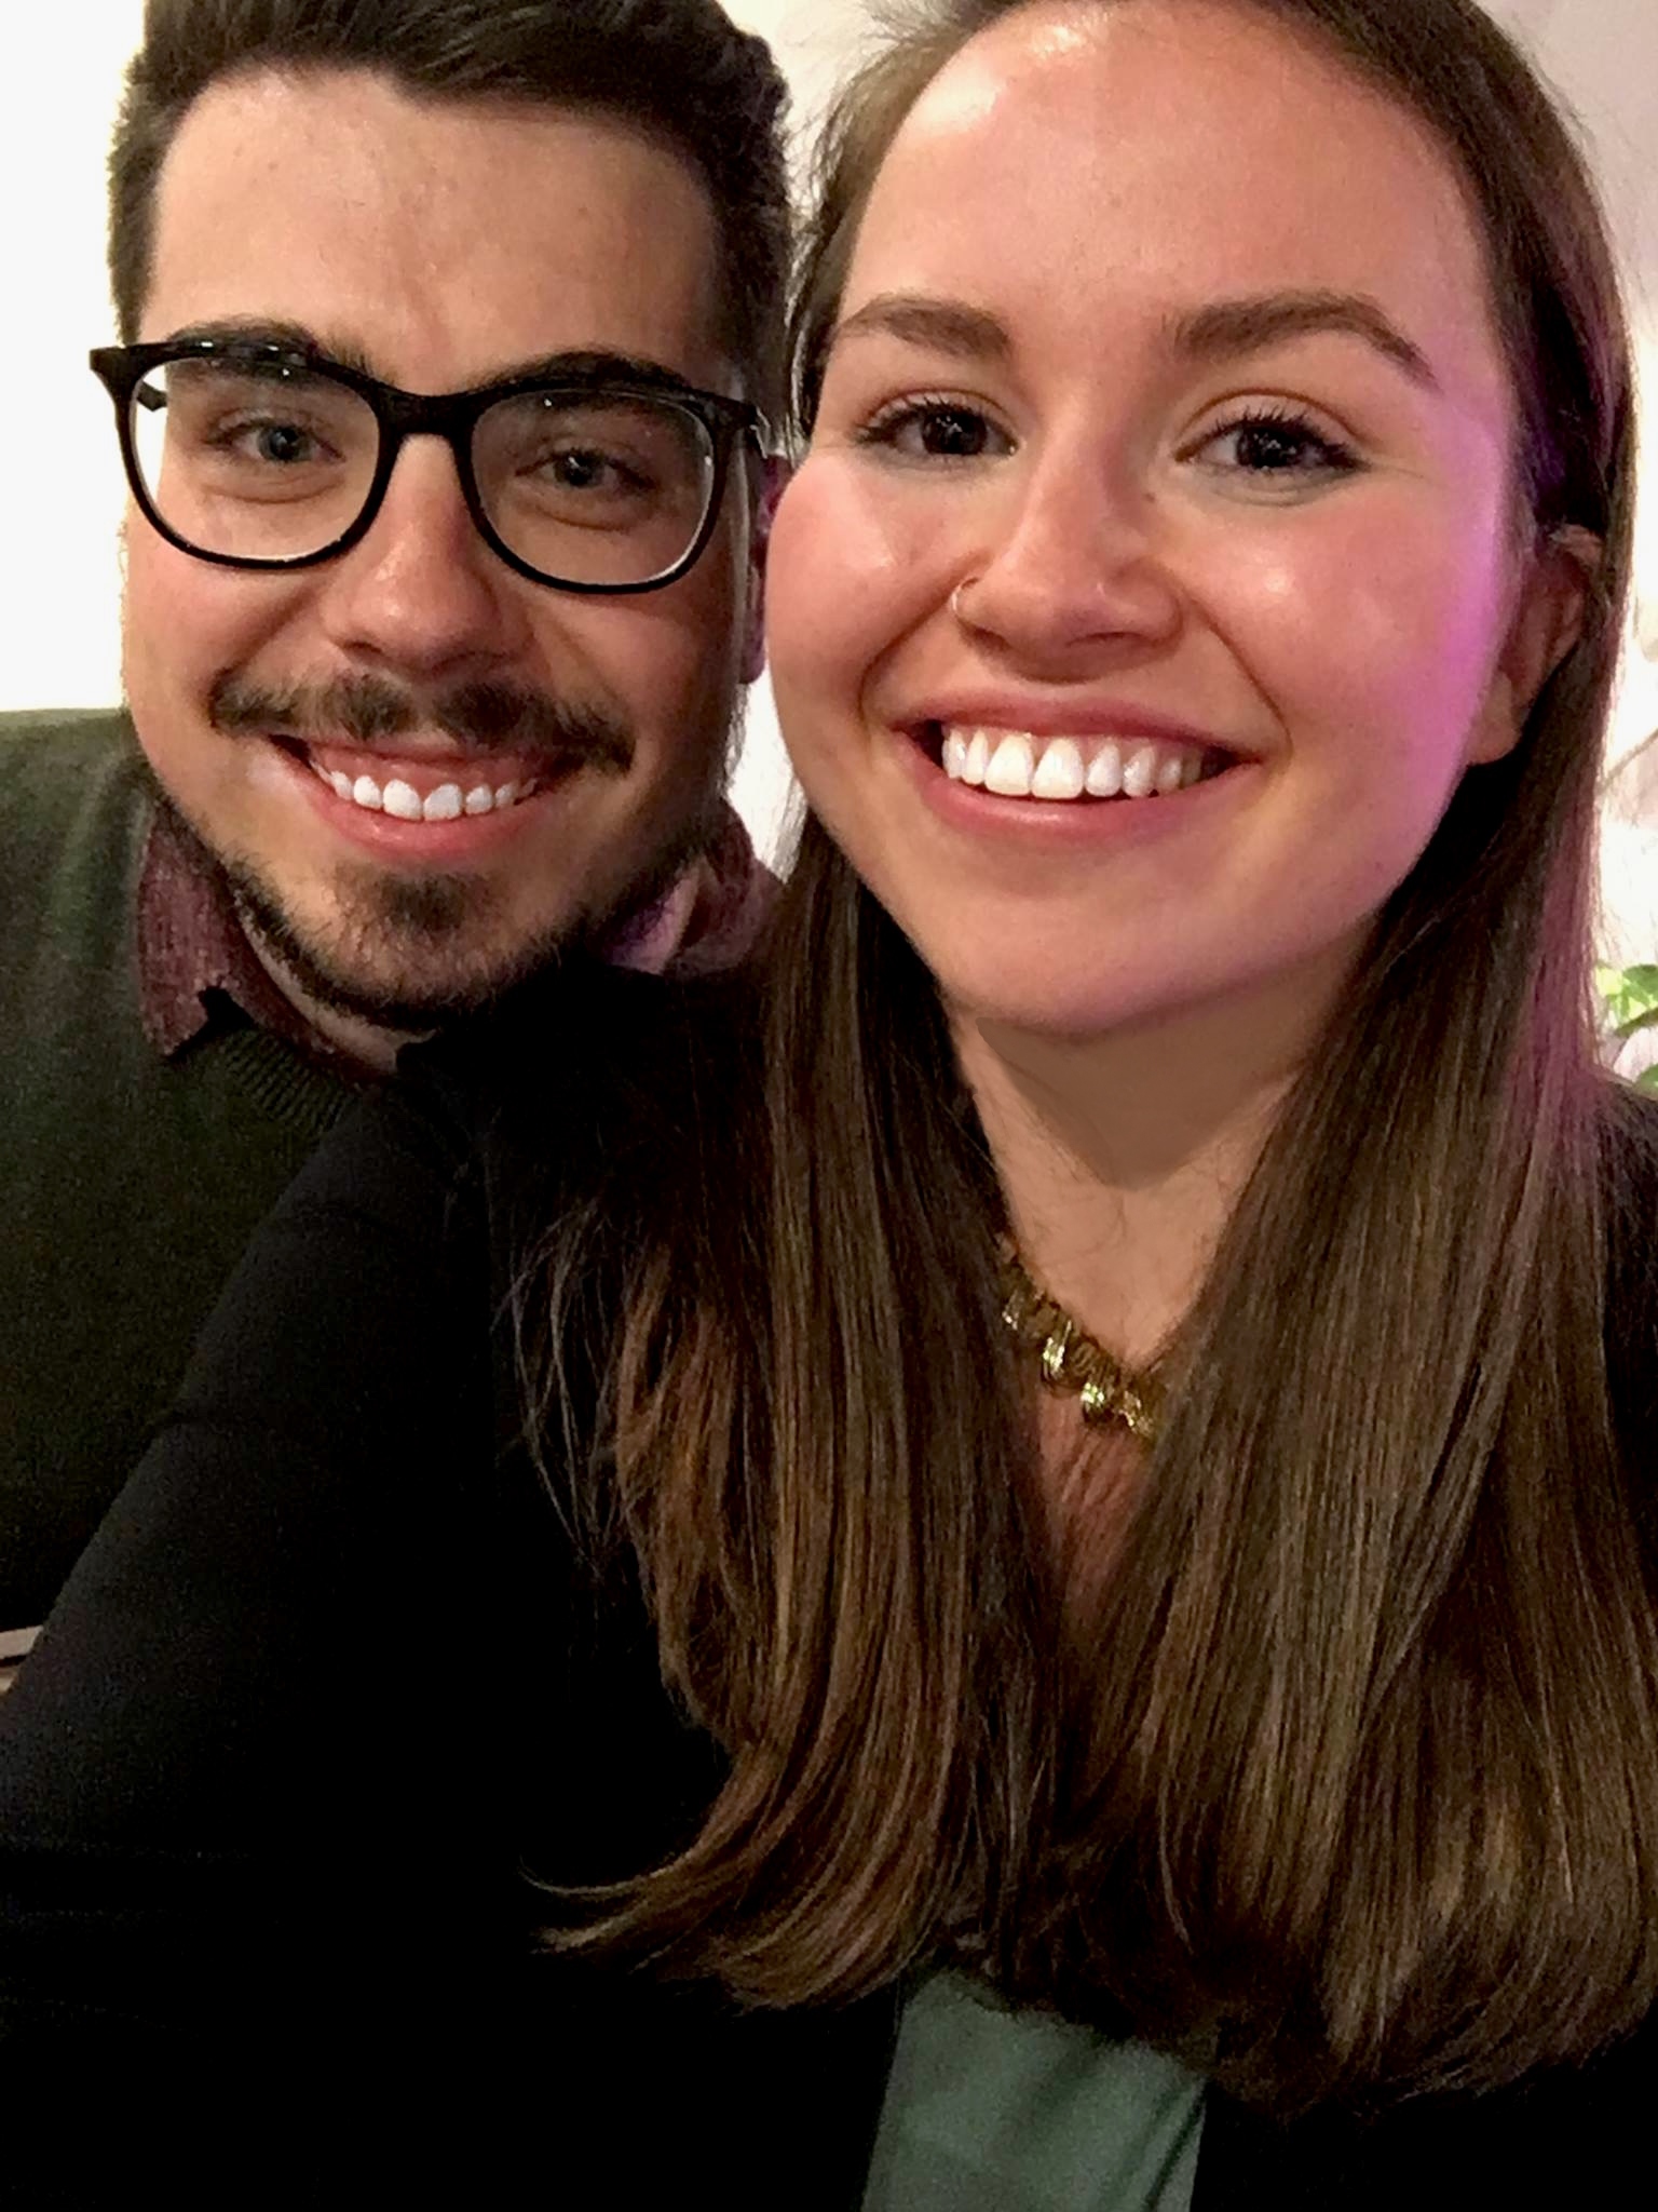
{"type": "MultiPolygon", "coordinates": [[[[208,714],[228,734],[245,730],[314,743],[385,743],[405,730],[438,728],[480,763],[511,752],[544,763],[548,774],[568,772],[573,763],[577,772],[626,774],[634,757],[632,732],[617,717],[506,684],[453,686],[418,706],[407,690],[371,675],[281,692],[230,675],[214,686],[208,714]]],[[[736,732],[732,701],[727,768],[736,732]]],[[[707,845],[723,785],[718,776],[690,818],[674,823],[608,902],[575,909],[506,945],[491,936],[500,891],[464,869],[402,876],[371,863],[340,863],[336,927],[318,940],[248,854],[208,847],[208,858],[225,878],[248,936],[314,1004],[376,1029],[422,1033],[475,1013],[555,960],[597,953],[626,916],[659,898],[707,845]]],[[[192,834],[201,843],[199,830],[192,834]]]]}

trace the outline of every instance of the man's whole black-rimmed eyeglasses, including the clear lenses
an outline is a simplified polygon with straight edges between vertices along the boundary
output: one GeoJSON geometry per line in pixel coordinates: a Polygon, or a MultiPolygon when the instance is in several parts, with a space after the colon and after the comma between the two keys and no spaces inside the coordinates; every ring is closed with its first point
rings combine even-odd
{"type": "Polygon", "coordinates": [[[263,338],[104,345],[133,498],[183,553],[305,568],[374,522],[405,438],[444,438],[508,568],[555,591],[659,591],[707,544],[758,407],[672,380],[511,378],[420,396],[263,338]]]}

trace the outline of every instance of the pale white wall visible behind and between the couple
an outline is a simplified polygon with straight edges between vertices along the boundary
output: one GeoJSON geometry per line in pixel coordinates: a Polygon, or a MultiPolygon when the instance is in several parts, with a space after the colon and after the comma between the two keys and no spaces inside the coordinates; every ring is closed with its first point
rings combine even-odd
{"type": "MultiPolygon", "coordinates": [[[[858,49],[858,0],[732,0],[772,38],[802,119],[858,49]]],[[[1492,0],[1581,115],[1629,270],[1647,416],[1658,453],[1658,0],[1492,0]]],[[[141,0],[60,0],[7,22],[0,73],[2,420],[0,708],[99,706],[119,697],[119,462],[86,347],[113,336],[104,285],[104,144],[141,0]],[[20,425],[29,425],[20,431],[20,425]]],[[[1649,469],[1658,478],[1658,467],[1649,469]]],[[[1631,653],[1614,750],[1658,728],[1658,482],[1643,507],[1643,613],[1651,657],[1631,653]]],[[[749,719],[738,803],[769,843],[787,792],[765,695],[749,719]]],[[[1658,956],[1658,825],[1623,838],[1614,900],[1631,958],[1658,956]]],[[[1623,945],[1620,945],[1623,949],[1623,945]]]]}

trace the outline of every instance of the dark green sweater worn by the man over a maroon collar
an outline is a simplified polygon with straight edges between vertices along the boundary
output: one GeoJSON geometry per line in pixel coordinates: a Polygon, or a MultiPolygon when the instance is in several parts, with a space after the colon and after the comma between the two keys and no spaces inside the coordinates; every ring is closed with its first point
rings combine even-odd
{"type": "Polygon", "coordinates": [[[49,1610],[351,1095],[234,1009],[172,1060],[146,1040],[146,779],[124,714],[0,714],[0,1630],[49,1610]]]}

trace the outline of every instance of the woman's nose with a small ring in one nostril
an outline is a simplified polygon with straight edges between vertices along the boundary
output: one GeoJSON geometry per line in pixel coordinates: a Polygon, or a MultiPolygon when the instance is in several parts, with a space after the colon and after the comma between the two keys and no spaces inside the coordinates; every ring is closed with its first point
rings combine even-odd
{"type": "Polygon", "coordinates": [[[951,604],[1035,675],[1167,644],[1183,615],[1172,529],[1132,465],[1054,445],[1006,487],[951,604]]]}

